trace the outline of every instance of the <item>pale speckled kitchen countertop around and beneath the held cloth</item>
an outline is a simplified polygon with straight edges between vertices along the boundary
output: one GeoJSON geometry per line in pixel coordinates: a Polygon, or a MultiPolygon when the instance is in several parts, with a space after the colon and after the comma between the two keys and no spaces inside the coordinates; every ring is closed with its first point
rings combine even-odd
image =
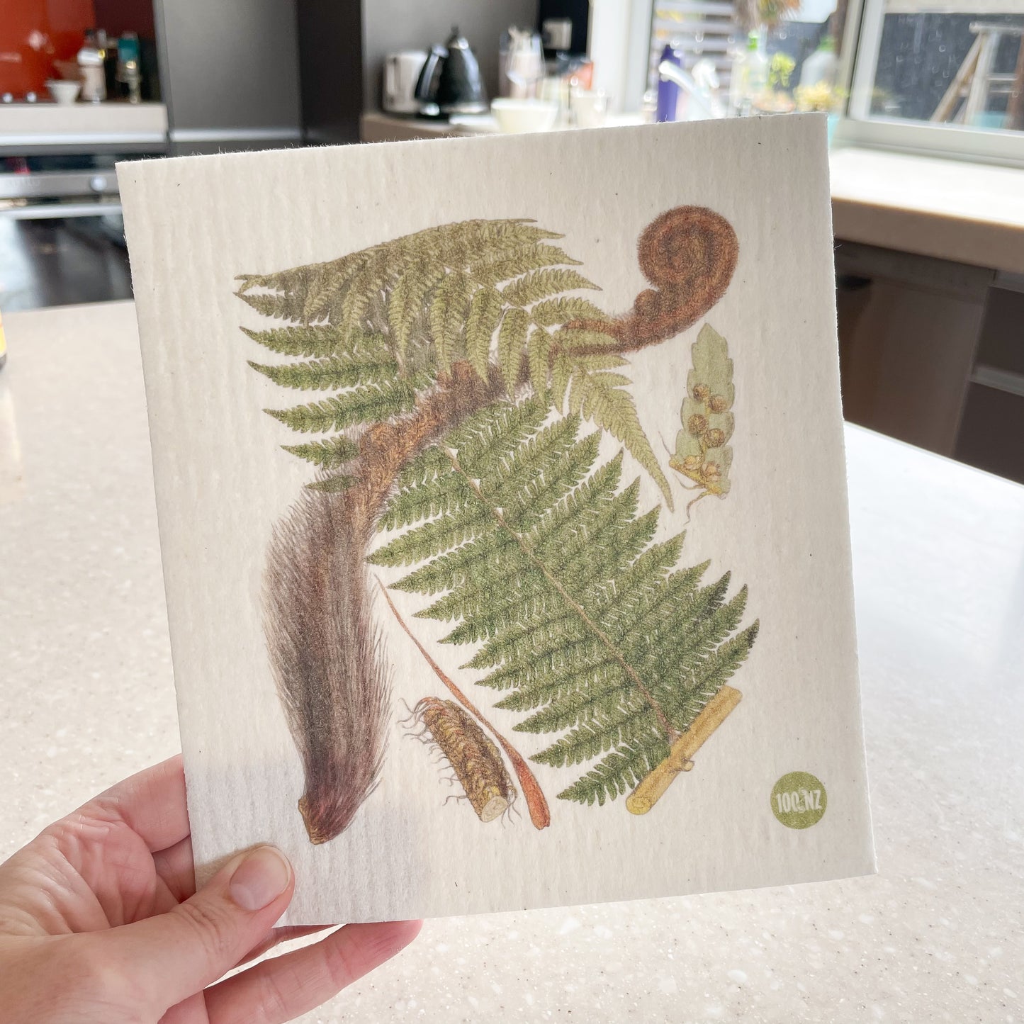
{"type": "MultiPolygon", "coordinates": [[[[132,306],[4,327],[0,858],[178,749],[132,306]]],[[[879,876],[428,922],[303,1020],[1024,1021],[1024,488],[847,441],[879,876]]]]}

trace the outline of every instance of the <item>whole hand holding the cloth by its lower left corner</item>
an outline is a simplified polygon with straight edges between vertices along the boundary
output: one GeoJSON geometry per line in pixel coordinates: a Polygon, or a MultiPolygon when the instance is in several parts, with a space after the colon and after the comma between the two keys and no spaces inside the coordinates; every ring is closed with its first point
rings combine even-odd
{"type": "Polygon", "coordinates": [[[284,854],[263,846],[196,892],[181,759],[139,772],[0,864],[0,1024],[278,1024],[420,930],[348,925],[214,984],[318,931],[273,928],[294,889],[284,854]]]}

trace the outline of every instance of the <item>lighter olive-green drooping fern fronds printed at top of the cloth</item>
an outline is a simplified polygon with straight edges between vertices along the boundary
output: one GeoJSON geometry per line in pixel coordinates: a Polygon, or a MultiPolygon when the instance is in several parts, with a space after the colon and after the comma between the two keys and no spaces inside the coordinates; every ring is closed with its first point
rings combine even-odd
{"type": "MultiPolygon", "coordinates": [[[[250,366],[276,384],[339,390],[321,401],[268,410],[293,430],[327,432],[409,412],[437,373],[468,364],[482,381],[492,371],[493,339],[506,389],[519,384],[523,356],[535,353],[534,385],[562,408],[621,440],[672,503],[669,481],[637,416],[630,383],[609,371],[626,360],[610,348],[610,325],[593,302],[562,293],[597,286],[548,240],[560,236],[522,220],[466,221],[420,231],[354,256],[282,274],[243,275],[239,295],[264,315],[300,328],[246,333],[271,351],[309,361],[250,366]],[[255,289],[273,289],[272,294],[255,289]],[[553,298],[553,296],[557,296],[553,298]],[[325,317],[330,323],[318,323],[325,317]],[[589,329],[573,330],[586,321],[589,329]],[[589,346],[580,350],[581,345],[589,346]],[[596,350],[595,350],[596,346],[596,350]]],[[[288,451],[323,466],[318,453],[288,451]]],[[[345,474],[311,486],[340,490],[345,474]]]]}

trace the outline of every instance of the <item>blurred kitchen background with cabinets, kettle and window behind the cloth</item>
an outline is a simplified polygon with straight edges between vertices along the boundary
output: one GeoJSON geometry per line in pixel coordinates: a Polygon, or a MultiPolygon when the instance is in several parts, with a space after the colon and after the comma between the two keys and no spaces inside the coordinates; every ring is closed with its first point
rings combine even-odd
{"type": "Polygon", "coordinates": [[[1022,35],[1024,0],[3,0],[0,314],[131,297],[118,160],[818,111],[847,418],[1024,481],[1022,35]]]}

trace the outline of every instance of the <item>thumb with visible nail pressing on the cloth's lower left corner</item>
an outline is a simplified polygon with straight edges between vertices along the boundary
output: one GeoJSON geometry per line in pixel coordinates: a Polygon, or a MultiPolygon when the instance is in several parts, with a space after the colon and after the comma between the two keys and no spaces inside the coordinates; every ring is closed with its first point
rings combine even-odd
{"type": "Polygon", "coordinates": [[[288,858],[261,846],[240,854],[167,913],[105,934],[159,1016],[234,967],[273,927],[294,891],[288,858]]]}

